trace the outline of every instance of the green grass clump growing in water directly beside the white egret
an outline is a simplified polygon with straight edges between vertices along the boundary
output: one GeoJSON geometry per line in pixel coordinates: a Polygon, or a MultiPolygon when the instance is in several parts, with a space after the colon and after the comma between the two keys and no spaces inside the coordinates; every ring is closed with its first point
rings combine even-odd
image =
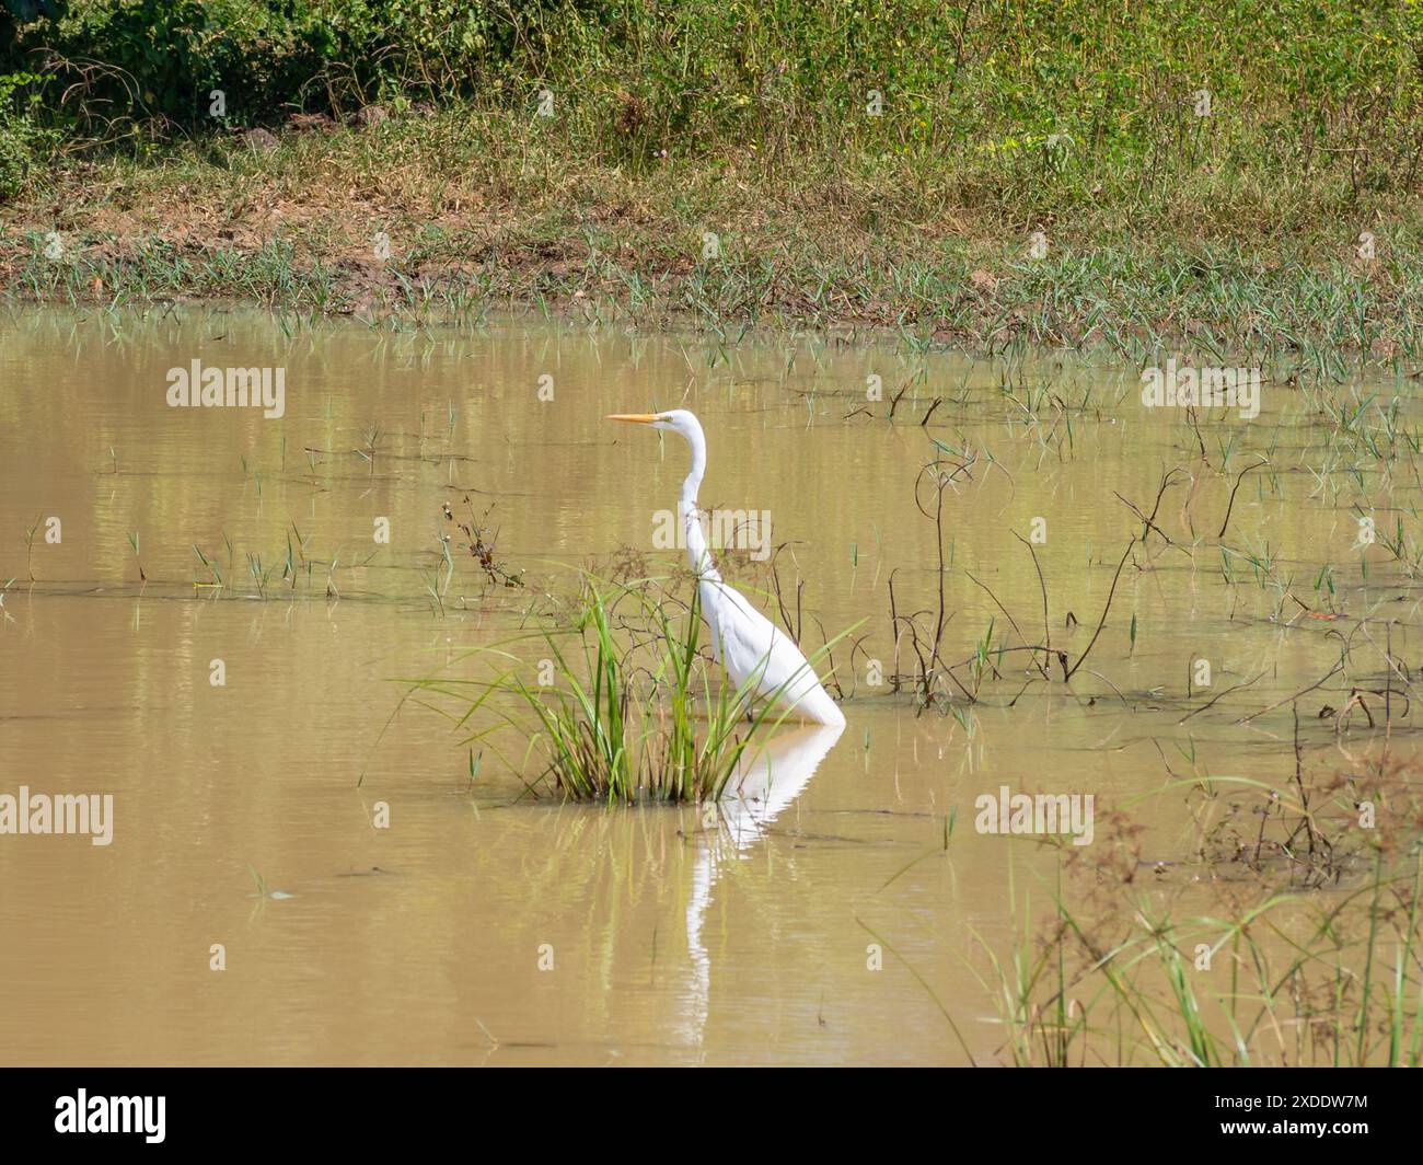
{"type": "Polygon", "coordinates": [[[585,575],[568,625],[471,652],[512,667],[490,679],[420,679],[411,694],[454,699],[457,711],[423,702],[461,728],[481,709],[492,711],[497,723],[471,732],[461,746],[494,748],[495,733],[514,729],[527,742],[525,763],[495,752],[517,773],[541,753],[539,776],[525,782],[535,795],[545,782],[585,802],[714,800],[754,732],[787,714],[770,699],[754,709],[754,676],[731,688],[700,648],[696,598],[686,607],[659,580],[610,584],[585,575]],[[511,648],[529,642],[549,652],[538,664],[549,682],[527,682],[527,652],[511,648]]]}

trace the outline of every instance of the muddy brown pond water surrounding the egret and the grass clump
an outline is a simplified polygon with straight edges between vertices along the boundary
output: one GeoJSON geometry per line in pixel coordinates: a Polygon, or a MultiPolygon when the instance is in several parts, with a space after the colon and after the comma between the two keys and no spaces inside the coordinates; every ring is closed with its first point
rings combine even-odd
{"type": "MultiPolygon", "coordinates": [[[[1313,397],[1266,383],[1259,417],[1202,413],[1198,440],[1180,410],[1141,406],[1138,376],[1049,353],[973,362],[528,319],[397,333],[283,329],[250,310],[9,310],[0,793],[112,795],[114,833],[108,846],[0,836],[0,1057],[965,1062],[942,1004],[976,1060],[1003,1060],[983,951],[1006,950],[1047,900],[1054,859],[978,833],[975,798],[1009,786],[1133,802],[1155,870],[1146,892],[1185,909],[1201,874],[1183,798],[1151,796],[1167,763],[1281,785],[1289,709],[1264,709],[1328,672],[1340,627],[1392,604],[1393,648],[1416,652],[1417,592],[1379,545],[1356,548],[1355,460],[1329,461],[1313,397]],[[192,360],[283,369],[285,414],[169,407],[168,370],[192,360]],[[875,376],[882,400],[868,399],[875,376]],[[770,513],[808,621],[831,634],[868,621],[855,658],[840,652],[844,733],[781,733],[767,798],[729,810],[734,827],[714,836],[693,808],[521,798],[521,775],[492,755],[471,786],[467,753],[420,709],[381,736],[394,681],[508,634],[571,568],[623,547],[676,558],[653,534],[684,447],[602,420],[675,406],[706,426],[703,506],[770,513]],[[921,712],[872,684],[871,661],[894,669],[891,575],[901,612],[936,601],[935,527],[915,506],[931,439],[941,456],[978,459],[943,504],[955,662],[990,620],[995,638],[1010,632],[998,602],[1026,639],[1043,634],[1015,534],[1046,531],[1047,634],[1073,657],[1141,530],[1116,494],[1150,513],[1161,474],[1181,467],[1157,521],[1201,544],[1151,540],[1070,691],[1029,684],[1009,657],[961,716],[921,712]],[[1202,467],[1200,443],[1225,473],[1202,467]],[[1237,474],[1261,456],[1278,477],[1245,476],[1225,541],[1274,555],[1284,582],[1239,558],[1227,582],[1215,536],[1237,474]],[[1325,484],[1306,463],[1328,466],[1325,484]],[[445,570],[443,506],[467,513],[465,497],[477,514],[492,507],[497,557],[529,585],[490,587],[460,557],[441,610],[428,587],[445,570]],[[282,578],[293,527],[313,563],[295,587],[282,578]],[[212,580],[195,545],[222,590],[195,585],[212,580]],[[1348,618],[1303,618],[1284,585],[1326,612],[1326,563],[1348,618]],[[1200,659],[1211,686],[1188,694],[1200,659]]],[[[1405,419],[1414,412],[1392,377],[1335,392],[1402,396],[1405,419]]],[[[1369,479],[1380,528],[1416,486],[1369,479]]],[[[764,582],[747,557],[726,554],[727,573],[764,582]]],[[[1339,686],[1302,709],[1338,705],[1339,686]]],[[[1311,761],[1356,761],[1353,726],[1309,719],[1311,761]]]]}

